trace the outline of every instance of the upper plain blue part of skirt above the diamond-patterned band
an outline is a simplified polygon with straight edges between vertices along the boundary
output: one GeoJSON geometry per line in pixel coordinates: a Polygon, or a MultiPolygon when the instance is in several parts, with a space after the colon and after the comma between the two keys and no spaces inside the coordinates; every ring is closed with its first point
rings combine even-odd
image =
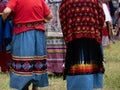
{"type": "Polygon", "coordinates": [[[42,56],[46,55],[46,37],[42,30],[30,30],[13,35],[14,56],[42,56]]]}

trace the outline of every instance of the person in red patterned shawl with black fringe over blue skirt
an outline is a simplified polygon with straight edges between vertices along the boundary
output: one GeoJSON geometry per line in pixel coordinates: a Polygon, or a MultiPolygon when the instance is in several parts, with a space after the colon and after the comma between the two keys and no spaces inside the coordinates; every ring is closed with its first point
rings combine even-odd
{"type": "Polygon", "coordinates": [[[99,0],[62,0],[60,22],[66,43],[64,79],[67,90],[103,87],[102,29],[105,15],[99,0]]]}

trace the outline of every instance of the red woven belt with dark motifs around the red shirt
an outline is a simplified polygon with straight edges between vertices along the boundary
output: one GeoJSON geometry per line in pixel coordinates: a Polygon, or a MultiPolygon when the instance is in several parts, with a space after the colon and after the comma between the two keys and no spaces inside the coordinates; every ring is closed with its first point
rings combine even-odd
{"type": "Polygon", "coordinates": [[[23,26],[27,27],[27,28],[30,28],[30,27],[33,27],[33,26],[38,26],[40,24],[44,24],[45,22],[44,21],[40,21],[40,22],[33,22],[33,23],[22,23],[22,24],[15,24],[14,26],[16,28],[21,28],[23,26]]]}

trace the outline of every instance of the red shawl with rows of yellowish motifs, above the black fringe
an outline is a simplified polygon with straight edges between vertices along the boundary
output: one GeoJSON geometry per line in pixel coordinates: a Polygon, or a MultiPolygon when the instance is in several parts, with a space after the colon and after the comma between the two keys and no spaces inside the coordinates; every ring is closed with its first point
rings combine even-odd
{"type": "Polygon", "coordinates": [[[101,43],[105,16],[98,0],[63,0],[60,22],[66,44],[75,38],[95,38],[101,43]]]}

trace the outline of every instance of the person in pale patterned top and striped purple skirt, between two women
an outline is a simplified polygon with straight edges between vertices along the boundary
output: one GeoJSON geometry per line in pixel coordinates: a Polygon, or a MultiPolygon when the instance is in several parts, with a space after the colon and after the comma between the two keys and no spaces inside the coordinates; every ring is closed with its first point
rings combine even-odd
{"type": "Polygon", "coordinates": [[[55,75],[62,75],[65,59],[65,42],[59,21],[60,0],[46,0],[51,9],[53,18],[46,24],[47,31],[47,66],[48,72],[55,75]]]}

